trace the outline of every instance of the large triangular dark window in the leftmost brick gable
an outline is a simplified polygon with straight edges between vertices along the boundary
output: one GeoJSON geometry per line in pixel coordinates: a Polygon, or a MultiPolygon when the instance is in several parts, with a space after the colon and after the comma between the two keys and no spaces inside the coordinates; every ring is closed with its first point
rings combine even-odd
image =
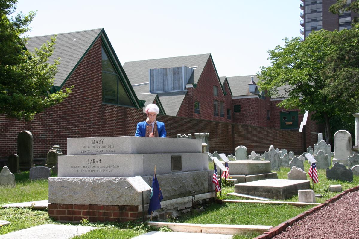
{"type": "Polygon", "coordinates": [[[134,106],[118,76],[115,67],[102,47],[102,102],[134,106]]]}

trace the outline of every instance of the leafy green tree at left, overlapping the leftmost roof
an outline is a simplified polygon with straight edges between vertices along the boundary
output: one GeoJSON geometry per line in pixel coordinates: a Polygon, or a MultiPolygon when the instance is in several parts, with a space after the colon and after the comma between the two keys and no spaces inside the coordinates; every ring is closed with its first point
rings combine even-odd
{"type": "Polygon", "coordinates": [[[34,52],[26,49],[27,38],[20,35],[29,31],[36,15],[14,13],[17,0],[0,0],[0,114],[20,120],[31,120],[36,113],[58,104],[71,89],[50,94],[57,64],[48,63],[55,38],[34,52]]]}

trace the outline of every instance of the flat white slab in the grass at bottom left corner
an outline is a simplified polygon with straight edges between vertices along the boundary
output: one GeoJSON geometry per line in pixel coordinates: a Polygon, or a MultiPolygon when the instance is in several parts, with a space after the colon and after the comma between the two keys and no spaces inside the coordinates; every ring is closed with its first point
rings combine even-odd
{"type": "Polygon", "coordinates": [[[93,229],[96,228],[93,226],[45,224],[0,235],[0,239],[70,239],[93,229]]]}

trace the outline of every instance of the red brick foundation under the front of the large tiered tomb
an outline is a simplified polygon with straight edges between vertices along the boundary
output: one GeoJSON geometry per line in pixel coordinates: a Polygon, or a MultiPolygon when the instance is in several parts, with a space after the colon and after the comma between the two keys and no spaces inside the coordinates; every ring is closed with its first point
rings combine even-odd
{"type": "Polygon", "coordinates": [[[49,204],[48,215],[58,221],[132,221],[142,217],[138,206],[49,204]]]}

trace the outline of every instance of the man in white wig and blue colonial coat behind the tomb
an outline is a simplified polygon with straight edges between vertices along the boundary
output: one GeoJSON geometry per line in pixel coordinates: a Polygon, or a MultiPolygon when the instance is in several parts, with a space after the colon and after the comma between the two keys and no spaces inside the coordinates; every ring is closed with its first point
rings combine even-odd
{"type": "Polygon", "coordinates": [[[148,118],[146,121],[137,124],[135,136],[166,138],[167,133],[164,123],[156,120],[156,116],[159,113],[158,106],[149,104],[146,106],[145,112],[148,118]]]}

